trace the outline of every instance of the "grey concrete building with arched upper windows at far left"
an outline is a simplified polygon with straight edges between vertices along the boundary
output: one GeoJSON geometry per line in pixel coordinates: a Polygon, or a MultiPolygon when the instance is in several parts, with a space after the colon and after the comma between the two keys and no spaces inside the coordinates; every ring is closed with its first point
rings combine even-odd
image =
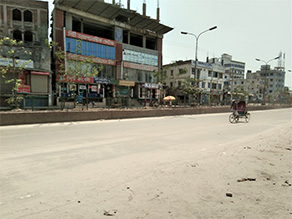
{"type": "Polygon", "coordinates": [[[0,66],[15,64],[15,72],[0,78],[0,104],[9,107],[7,99],[12,95],[12,84],[5,83],[16,77],[20,79],[17,93],[24,99],[21,107],[51,106],[51,59],[46,44],[48,39],[48,3],[32,0],[0,1],[0,38],[9,37],[22,41],[21,46],[0,46],[0,66]],[[8,53],[13,49],[15,54],[8,53]],[[25,63],[25,64],[23,64],[25,63]],[[18,66],[23,64],[23,69],[18,66]]]}

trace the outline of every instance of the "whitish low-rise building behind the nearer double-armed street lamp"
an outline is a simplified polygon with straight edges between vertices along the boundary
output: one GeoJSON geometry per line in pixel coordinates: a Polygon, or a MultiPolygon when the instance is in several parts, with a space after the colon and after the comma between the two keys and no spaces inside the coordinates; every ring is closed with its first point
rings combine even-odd
{"type": "Polygon", "coordinates": [[[191,95],[186,93],[183,88],[184,83],[190,83],[190,87],[196,89],[196,100],[193,102],[220,103],[223,99],[224,86],[224,66],[219,59],[207,59],[206,62],[195,62],[193,60],[177,61],[176,63],[164,65],[166,69],[165,85],[170,90],[176,90],[177,93],[170,93],[179,98],[180,102],[190,100],[191,95]],[[197,70],[195,70],[197,68],[197,70]],[[188,79],[190,82],[188,82],[188,79]],[[175,89],[178,88],[178,89],[175,89]]]}

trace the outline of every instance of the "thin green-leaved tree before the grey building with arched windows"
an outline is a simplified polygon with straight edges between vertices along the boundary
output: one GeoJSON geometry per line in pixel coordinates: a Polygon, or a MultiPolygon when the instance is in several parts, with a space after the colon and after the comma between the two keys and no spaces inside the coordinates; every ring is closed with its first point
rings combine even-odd
{"type": "Polygon", "coordinates": [[[7,54],[6,57],[1,56],[1,58],[5,59],[8,63],[7,65],[0,66],[1,77],[4,78],[6,84],[11,84],[11,95],[6,101],[11,106],[19,108],[19,104],[23,100],[23,95],[18,92],[18,88],[22,82],[19,74],[23,72],[31,60],[19,60],[17,56],[21,53],[27,55],[31,55],[31,53],[25,50],[22,41],[13,40],[9,37],[0,39],[0,46],[2,52],[7,54]],[[12,75],[12,78],[9,78],[8,75],[12,75]],[[8,76],[8,79],[6,76],[8,76]]]}

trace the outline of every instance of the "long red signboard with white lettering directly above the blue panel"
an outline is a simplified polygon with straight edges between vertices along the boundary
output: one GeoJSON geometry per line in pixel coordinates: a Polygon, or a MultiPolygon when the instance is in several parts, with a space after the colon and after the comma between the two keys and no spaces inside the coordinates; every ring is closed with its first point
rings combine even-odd
{"type": "Polygon", "coordinates": [[[94,43],[100,43],[100,44],[104,44],[108,46],[114,46],[114,47],[116,46],[116,41],[104,39],[101,37],[92,36],[92,35],[88,35],[84,33],[79,33],[72,30],[66,30],[66,36],[75,38],[75,39],[86,40],[86,41],[90,41],[94,43]]]}

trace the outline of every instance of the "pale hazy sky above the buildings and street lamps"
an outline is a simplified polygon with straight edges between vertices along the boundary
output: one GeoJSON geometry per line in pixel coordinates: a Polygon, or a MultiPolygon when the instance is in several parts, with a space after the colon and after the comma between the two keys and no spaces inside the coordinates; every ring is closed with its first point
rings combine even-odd
{"type": "MultiPolygon", "coordinates": [[[[115,1],[127,7],[127,0],[115,1]]],[[[144,1],[146,15],[156,19],[158,0],[131,0],[131,9],[142,13],[144,1]]],[[[51,11],[53,0],[48,2],[51,11]]],[[[174,28],[163,38],[163,64],[194,59],[196,39],[181,31],[198,35],[217,26],[199,37],[199,61],[227,53],[233,60],[244,62],[246,71],[255,72],[282,52],[285,86],[292,89],[291,0],[159,0],[159,7],[160,22],[174,28]]],[[[269,64],[272,68],[279,66],[278,60],[269,64]]]]}

